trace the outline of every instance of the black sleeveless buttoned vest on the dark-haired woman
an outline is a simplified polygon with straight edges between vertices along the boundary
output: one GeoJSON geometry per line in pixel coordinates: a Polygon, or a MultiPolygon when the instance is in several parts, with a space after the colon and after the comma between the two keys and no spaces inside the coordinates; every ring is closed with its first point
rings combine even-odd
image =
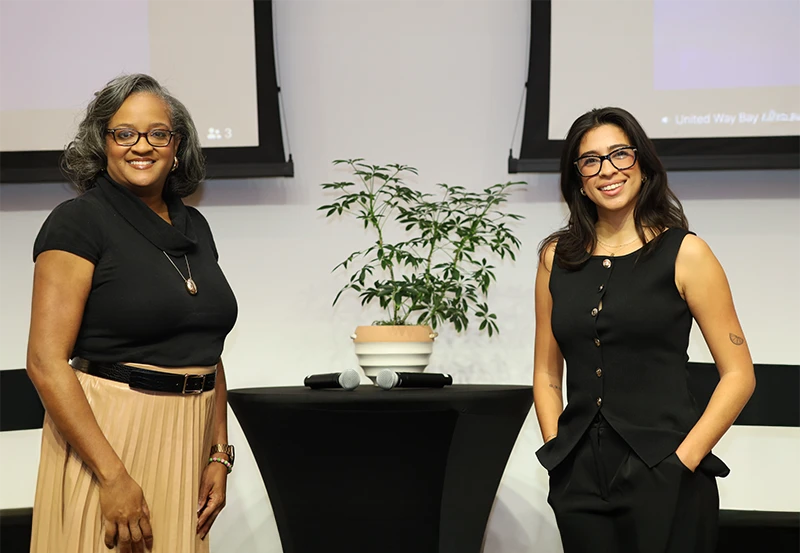
{"type": "MultiPolygon", "coordinates": [[[[665,231],[647,255],[592,256],[573,271],[553,263],[552,328],[567,363],[567,406],[558,436],[537,451],[548,470],[598,413],[649,467],[697,422],[686,352],[692,314],[675,286],[675,259],[688,233],[665,231]]],[[[727,473],[710,457],[711,472],[727,473]]]]}

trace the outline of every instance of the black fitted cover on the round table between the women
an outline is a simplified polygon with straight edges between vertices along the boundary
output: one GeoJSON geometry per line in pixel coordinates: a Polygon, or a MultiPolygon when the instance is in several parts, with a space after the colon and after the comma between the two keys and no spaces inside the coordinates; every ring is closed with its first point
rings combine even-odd
{"type": "MultiPolygon", "coordinates": [[[[231,390],[284,553],[479,553],[530,386],[231,390]]],[[[531,463],[535,462],[531,459],[531,463]]]]}

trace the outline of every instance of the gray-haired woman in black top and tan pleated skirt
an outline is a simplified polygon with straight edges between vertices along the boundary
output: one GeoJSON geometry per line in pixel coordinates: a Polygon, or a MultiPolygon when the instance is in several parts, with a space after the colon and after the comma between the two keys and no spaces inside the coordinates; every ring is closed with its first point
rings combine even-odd
{"type": "Polygon", "coordinates": [[[194,123],[152,77],[116,78],[62,170],[80,195],[33,251],[27,369],[46,417],[31,551],[206,552],[234,462],[221,354],[237,306],[181,201],[205,175],[194,123]]]}

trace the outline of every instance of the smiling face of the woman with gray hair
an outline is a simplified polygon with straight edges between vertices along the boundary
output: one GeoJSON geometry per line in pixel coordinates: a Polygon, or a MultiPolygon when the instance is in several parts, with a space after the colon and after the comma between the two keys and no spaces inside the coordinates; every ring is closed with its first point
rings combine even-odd
{"type": "MultiPolygon", "coordinates": [[[[167,104],[148,93],[131,94],[108,122],[109,129],[129,128],[147,133],[154,129],[172,130],[167,104]]],[[[152,191],[161,194],[175,161],[180,137],[175,135],[164,147],[153,147],[145,136],[133,146],[120,146],[111,134],[106,135],[108,174],[135,193],[152,191]]]]}

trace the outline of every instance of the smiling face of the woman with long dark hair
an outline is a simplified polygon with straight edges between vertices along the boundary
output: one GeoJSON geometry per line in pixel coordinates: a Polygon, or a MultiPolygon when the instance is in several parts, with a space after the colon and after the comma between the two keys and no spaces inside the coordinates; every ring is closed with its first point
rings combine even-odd
{"type": "MultiPolygon", "coordinates": [[[[604,156],[626,146],[629,147],[632,144],[622,129],[616,125],[601,125],[583,135],[578,148],[578,157],[587,154],[604,156]]],[[[612,159],[617,165],[624,167],[627,163],[624,163],[621,158],[630,155],[630,152],[630,150],[623,150],[612,156],[612,159]]],[[[633,208],[642,187],[642,170],[639,162],[636,161],[632,167],[624,170],[617,169],[609,160],[602,160],[601,163],[602,166],[597,175],[581,177],[586,196],[597,205],[598,211],[633,208]]]]}

